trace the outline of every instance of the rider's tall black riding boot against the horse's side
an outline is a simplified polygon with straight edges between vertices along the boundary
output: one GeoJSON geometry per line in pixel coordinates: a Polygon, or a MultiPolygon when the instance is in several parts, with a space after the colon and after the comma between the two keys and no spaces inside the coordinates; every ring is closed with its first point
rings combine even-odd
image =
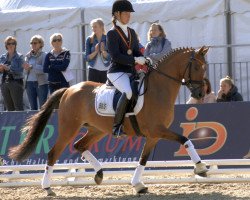
{"type": "Polygon", "coordinates": [[[113,125],[113,135],[117,138],[125,136],[125,133],[122,130],[122,123],[124,121],[128,102],[129,100],[126,97],[126,93],[123,93],[116,107],[115,119],[113,125]]]}

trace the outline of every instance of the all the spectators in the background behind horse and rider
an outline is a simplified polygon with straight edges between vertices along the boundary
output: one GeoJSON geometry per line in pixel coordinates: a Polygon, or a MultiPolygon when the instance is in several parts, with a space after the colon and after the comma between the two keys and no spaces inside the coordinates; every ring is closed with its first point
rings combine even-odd
{"type": "MultiPolygon", "coordinates": [[[[90,23],[92,34],[85,41],[85,61],[88,67],[88,80],[100,83],[107,81],[107,71],[110,66],[110,55],[107,50],[107,36],[101,18],[90,23]]],[[[139,42],[139,37],[137,35],[139,42]]],[[[25,55],[18,52],[18,41],[8,36],[5,41],[6,53],[0,56],[1,93],[6,111],[24,110],[23,95],[26,91],[31,110],[38,110],[46,101],[48,94],[63,87],[69,87],[67,69],[70,63],[70,51],[62,46],[63,36],[54,33],[50,37],[51,51],[44,52],[44,39],[34,35],[30,39],[30,51],[25,55]]],[[[153,63],[160,60],[171,50],[171,42],[166,38],[162,26],[153,23],[148,31],[148,43],[139,49],[153,63]]],[[[243,101],[241,94],[230,77],[220,80],[220,90],[212,91],[208,78],[204,78],[204,93],[202,99],[190,97],[187,104],[215,103],[228,101],[243,101]]]]}

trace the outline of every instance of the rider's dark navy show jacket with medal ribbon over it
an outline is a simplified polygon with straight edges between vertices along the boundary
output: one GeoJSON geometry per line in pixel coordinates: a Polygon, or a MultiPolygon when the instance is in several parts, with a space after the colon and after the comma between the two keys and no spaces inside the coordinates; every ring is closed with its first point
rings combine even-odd
{"type": "MultiPolygon", "coordinates": [[[[129,41],[129,38],[126,37],[124,32],[120,27],[120,33],[122,33],[123,37],[129,41]]],[[[128,28],[131,33],[131,47],[132,54],[128,55],[128,47],[124,43],[123,39],[116,31],[115,27],[113,27],[107,33],[107,48],[108,52],[111,56],[111,64],[108,70],[108,73],[115,73],[115,72],[126,72],[126,73],[133,73],[135,60],[134,57],[143,56],[139,50],[139,41],[134,29],[128,28]]]]}

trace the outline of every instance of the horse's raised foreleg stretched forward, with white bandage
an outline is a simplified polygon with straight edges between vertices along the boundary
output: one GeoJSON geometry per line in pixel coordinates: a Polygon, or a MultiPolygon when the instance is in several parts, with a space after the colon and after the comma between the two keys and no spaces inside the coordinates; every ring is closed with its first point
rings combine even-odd
{"type": "Polygon", "coordinates": [[[181,145],[184,145],[188,152],[188,155],[196,166],[194,169],[194,173],[200,176],[206,176],[206,172],[208,171],[206,164],[201,162],[201,158],[195,150],[193,143],[187,137],[170,131],[165,127],[158,128],[155,133],[157,133],[157,135],[155,134],[155,137],[157,136],[162,139],[176,141],[181,145]]]}

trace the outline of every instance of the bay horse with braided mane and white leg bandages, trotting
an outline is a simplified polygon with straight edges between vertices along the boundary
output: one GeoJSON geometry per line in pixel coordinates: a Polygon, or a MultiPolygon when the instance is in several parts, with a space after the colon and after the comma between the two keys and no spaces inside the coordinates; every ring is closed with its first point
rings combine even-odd
{"type": "MultiPolygon", "coordinates": [[[[139,164],[135,169],[131,184],[137,193],[146,193],[148,188],[141,181],[151,150],[160,139],[176,141],[185,148],[194,162],[194,173],[206,176],[206,164],[201,162],[192,142],[169,129],[174,119],[174,105],[181,85],[186,85],[191,95],[197,99],[204,96],[203,77],[206,70],[205,54],[208,47],[199,49],[179,48],[165,55],[154,66],[147,78],[147,91],[144,94],[144,105],[137,114],[138,124],[146,142],[141,153],[139,164]]],[[[35,149],[46,123],[58,107],[58,137],[48,153],[42,188],[47,195],[55,195],[52,191],[51,174],[53,165],[65,147],[78,135],[82,126],[88,132],[74,144],[96,171],[94,180],[100,184],[103,179],[101,163],[88,151],[108,133],[112,133],[113,117],[100,116],[95,111],[96,91],[102,84],[81,82],[69,88],[55,91],[42,106],[41,110],[26,121],[22,132],[27,132],[23,143],[10,148],[9,157],[22,161],[35,149]]],[[[135,135],[128,119],[124,121],[124,131],[128,136],[135,135]]]]}

